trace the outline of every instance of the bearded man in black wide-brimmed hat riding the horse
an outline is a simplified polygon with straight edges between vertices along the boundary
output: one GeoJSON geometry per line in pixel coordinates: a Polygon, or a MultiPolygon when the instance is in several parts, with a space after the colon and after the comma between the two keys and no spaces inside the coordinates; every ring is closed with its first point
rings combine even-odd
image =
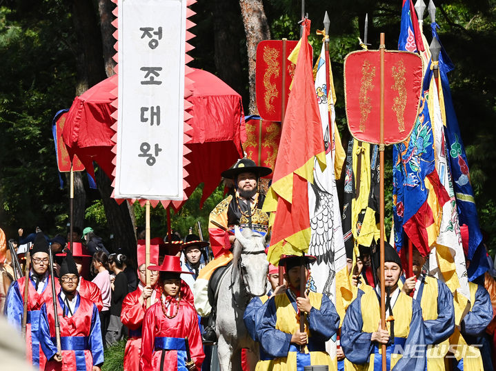
{"type": "MultiPolygon", "coordinates": [[[[210,212],[208,232],[215,259],[200,271],[193,290],[195,308],[201,317],[208,317],[212,310],[208,302],[208,280],[217,268],[232,260],[235,225],[241,229],[250,228],[262,235],[267,233],[268,214],[261,210],[265,195],[259,192],[259,178],[271,172],[270,168],[256,166],[254,161],[246,158],[222,172],[222,177],[232,179],[235,189],[210,212]]],[[[204,341],[215,341],[215,332],[207,330],[204,341]]]]}

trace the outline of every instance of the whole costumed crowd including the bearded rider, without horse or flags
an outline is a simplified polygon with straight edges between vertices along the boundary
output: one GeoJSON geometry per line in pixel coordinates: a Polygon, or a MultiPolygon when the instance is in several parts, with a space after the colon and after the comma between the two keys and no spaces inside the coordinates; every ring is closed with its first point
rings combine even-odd
{"type": "MultiPolygon", "coordinates": [[[[174,234],[152,239],[148,267],[143,228],[137,230],[135,263],[126,254],[109,254],[91,228],[82,232],[84,243],[75,230],[77,242],[71,246],[42,230],[27,237],[19,230],[13,241],[17,257],[28,252],[21,245],[32,245],[28,280],[13,281],[0,304],[8,322],[26,332],[30,363],[40,370],[98,371],[104,348],[127,339],[124,370],[210,370],[222,308],[215,310],[209,281],[233,259],[235,227],[268,232],[259,192],[259,177],[268,172],[249,159],[226,170],[222,175],[235,188],[210,214],[210,244],[191,231],[185,239],[174,234]]],[[[387,241],[384,246],[386,323],[381,322],[379,254],[370,248],[361,246],[357,256],[348,257],[346,308],[311,290],[315,257],[282,256],[282,270],[270,265],[266,295],[253,298],[244,310],[244,325],[258,348],[243,350],[243,369],[381,370],[385,351],[387,370],[493,370],[493,277],[486,272],[468,283],[470,298],[464,299],[426,273],[426,258],[417,250],[413,276],[407,277],[395,248],[387,241]]]]}

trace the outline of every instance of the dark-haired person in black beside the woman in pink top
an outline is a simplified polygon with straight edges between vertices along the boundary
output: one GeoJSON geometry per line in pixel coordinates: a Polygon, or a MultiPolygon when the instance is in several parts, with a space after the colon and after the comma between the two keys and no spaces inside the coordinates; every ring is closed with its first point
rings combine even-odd
{"type": "Polygon", "coordinates": [[[124,334],[121,322],[121,310],[122,301],[128,294],[128,279],[123,272],[126,265],[126,259],[126,255],[123,254],[110,254],[108,257],[108,265],[110,266],[110,270],[114,272],[115,278],[111,285],[112,299],[110,299],[110,320],[105,336],[105,343],[107,346],[121,340],[124,334]]]}

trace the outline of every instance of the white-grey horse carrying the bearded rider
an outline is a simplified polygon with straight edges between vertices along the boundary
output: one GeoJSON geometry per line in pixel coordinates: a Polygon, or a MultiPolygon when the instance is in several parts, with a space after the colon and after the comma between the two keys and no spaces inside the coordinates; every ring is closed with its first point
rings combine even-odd
{"type": "Polygon", "coordinates": [[[265,237],[248,228],[240,232],[237,227],[235,236],[232,265],[219,282],[217,298],[217,354],[221,371],[241,370],[242,348],[249,348],[259,357],[259,348],[246,330],[243,314],[250,300],[267,290],[265,237]]]}

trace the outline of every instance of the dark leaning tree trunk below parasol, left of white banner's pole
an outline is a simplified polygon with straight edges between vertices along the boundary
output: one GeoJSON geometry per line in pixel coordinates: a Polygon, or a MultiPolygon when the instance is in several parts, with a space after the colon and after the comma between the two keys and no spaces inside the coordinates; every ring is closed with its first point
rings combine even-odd
{"type": "Polygon", "coordinates": [[[119,205],[115,199],[110,197],[113,190],[112,182],[101,169],[95,172],[95,177],[97,177],[97,187],[101,194],[103,208],[105,208],[108,227],[114,234],[112,250],[114,252],[118,249],[123,250],[133,262],[136,262],[136,233],[129,214],[128,201],[119,205]]]}

